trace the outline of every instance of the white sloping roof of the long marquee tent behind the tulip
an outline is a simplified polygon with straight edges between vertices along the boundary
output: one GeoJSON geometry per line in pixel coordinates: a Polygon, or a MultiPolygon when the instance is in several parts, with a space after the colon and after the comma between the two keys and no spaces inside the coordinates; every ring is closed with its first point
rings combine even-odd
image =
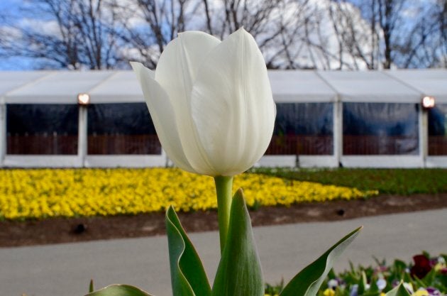
{"type": "MultiPolygon", "coordinates": [[[[424,95],[447,103],[447,70],[311,71],[270,70],[276,102],[407,102],[424,95]]],[[[132,71],[0,72],[0,104],[92,104],[144,102],[132,71]]]]}

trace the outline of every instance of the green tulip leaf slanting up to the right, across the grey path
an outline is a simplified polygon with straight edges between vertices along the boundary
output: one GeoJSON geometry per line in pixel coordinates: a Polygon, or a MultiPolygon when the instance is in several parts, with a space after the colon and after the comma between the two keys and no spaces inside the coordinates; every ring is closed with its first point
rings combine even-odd
{"type": "Polygon", "coordinates": [[[343,253],[345,248],[355,239],[359,231],[363,228],[360,226],[353,232],[343,237],[338,243],[332,246],[320,258],[313,263],[307,265],[302,271],[290,280],[290,282],[282,290],[280,296],[314,296],[318,292],[321,283],[331,270],[333,263],[338,256],[343,253]]]}

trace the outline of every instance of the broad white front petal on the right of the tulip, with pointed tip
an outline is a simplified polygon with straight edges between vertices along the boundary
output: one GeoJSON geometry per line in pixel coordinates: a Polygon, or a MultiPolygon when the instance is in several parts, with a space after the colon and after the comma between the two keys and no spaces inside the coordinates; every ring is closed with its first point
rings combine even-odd
{"type": "Polygon", "coordinates": [[[240,29],[206,56],[192,91],[192,116],[214,170],[234,175],[265,153],[275,124],[267,68],[240,29]]]}

